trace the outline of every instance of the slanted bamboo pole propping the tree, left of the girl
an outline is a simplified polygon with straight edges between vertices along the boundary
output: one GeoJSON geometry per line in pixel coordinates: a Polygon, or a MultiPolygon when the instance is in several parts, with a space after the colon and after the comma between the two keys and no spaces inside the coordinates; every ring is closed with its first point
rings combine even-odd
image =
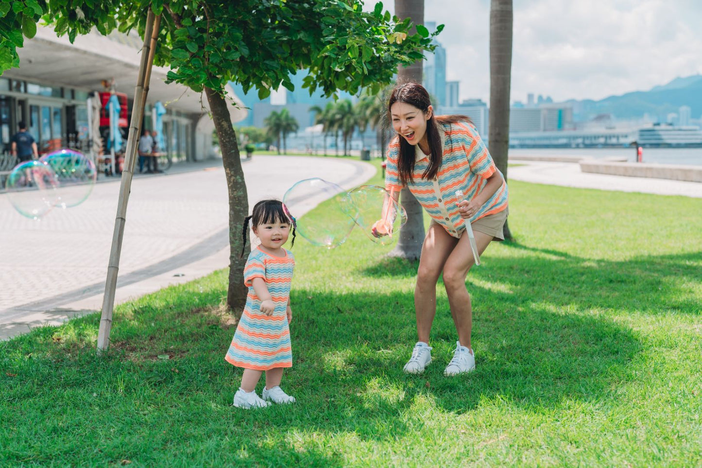
{"type": "Polygon", "coordinates": [[[119,272],[119,255],[124,238],[124,224],[126,222],[127,202],[131,190],[131,181],[134,174],[136,150],[138,147],[141,124],[144,117],[146,97],[149,91],[151,68],[154,63],[154,52],[159,34],[161,16],[154,15],[149,9],[144,32],[144,46],[141,49],[141,62],[139,74],[134,91],[134,104],[125,151],[124,168],[122,170],[121,184],[119,186],[119,201],[117,203],[117,216],[114,220],[114,233],[112,233],[112,247],[110,249],[110,264],[107,266],[107,280],[105,280],[105,296],[102,298],[102,316],[100,317],[100,330],[98,331],[98,353],[107,351],[110,346],[110,329],[112,328],[112,311],[114,308],[114,294],[117,290],[117,273],[119,272]]]}

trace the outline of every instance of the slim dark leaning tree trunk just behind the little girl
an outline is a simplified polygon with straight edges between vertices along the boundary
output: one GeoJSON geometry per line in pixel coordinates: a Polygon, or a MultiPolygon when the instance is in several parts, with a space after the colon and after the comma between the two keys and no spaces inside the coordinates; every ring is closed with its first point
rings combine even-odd
{"type": "MultiPolygon", "coordinates": [[[[229,192],[229,288],[227,290],[227,307],[237,318],[241,317],[246,305],[246,294],[249,289],[244,286],[244,266],[246,255],[239,258],[243,240],[241,239],[241,224],[249,214],[249,195],[246,193],[244,170],[241,169],[241,156],[237,145],[237,134],[232,127],[227,101],[222,95],[205,88],[207,101],[210,104],[212,119],[219,138],[222,151],[222,164],[227,177],[229,192]]],[[[246,242],[249,247],[249,242],[246,242]]],[[[244,253],[249,252],[244,249],[244,253]]]]}

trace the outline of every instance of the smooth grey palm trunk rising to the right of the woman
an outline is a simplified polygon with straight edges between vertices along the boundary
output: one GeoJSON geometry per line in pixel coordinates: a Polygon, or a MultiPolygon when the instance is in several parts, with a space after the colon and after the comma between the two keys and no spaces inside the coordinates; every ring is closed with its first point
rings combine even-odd
{"type": "MultiPolygon", "coordinates": [[[[510,148],[510,81],[512,74],[512,0],[490,2],[490,129],[489,148],[507,180],[510,148]]],[[[505,222],[505,239],[512,233],[505,222]]]]}

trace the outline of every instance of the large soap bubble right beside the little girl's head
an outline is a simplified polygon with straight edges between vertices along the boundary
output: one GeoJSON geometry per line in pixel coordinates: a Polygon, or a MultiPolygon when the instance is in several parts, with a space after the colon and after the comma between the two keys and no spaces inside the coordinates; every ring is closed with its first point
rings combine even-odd
{"type": "Polygon", "coordinates": [[[312,245],[333,249],[353,229],[355,209],[346,190],[322,178],[307,178],[286,191],[283,203],[297,220],[297,233],[312,245]],[[316,207],[322,209],[303,216],[316,207]]]}

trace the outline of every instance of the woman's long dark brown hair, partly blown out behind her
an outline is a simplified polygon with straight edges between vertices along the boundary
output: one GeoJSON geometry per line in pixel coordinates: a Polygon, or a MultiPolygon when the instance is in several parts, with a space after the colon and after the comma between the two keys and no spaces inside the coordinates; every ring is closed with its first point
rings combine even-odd
{"type": "MultiPolygon", "coordinates": [[[[390,108],[395,103],[406,103],[421,110],[424,115],[429,111],[431,105],[428,91],[421,84],[415,82],[407,82],[398,84],[390,91],[388,99],[388,120],[392,122],[392,112],[390,108]]],[[[438,124],[456,124],[458,122],[470,122],[470,117],[466,115],[434,115],[427,120],[427,141],[429,143],[429,166],[422,174],[422,178],[435,178],[442,162],[441,141],[444,137],[439,130],[438,124]]],[[[415,147],[410,145],[402,136],[399,138],[399,157],[397,158],[397,172],[399,173],[399,181],[402,186],[406,186],[412,181],[412,173],[416,162],[415,147]]]]}

